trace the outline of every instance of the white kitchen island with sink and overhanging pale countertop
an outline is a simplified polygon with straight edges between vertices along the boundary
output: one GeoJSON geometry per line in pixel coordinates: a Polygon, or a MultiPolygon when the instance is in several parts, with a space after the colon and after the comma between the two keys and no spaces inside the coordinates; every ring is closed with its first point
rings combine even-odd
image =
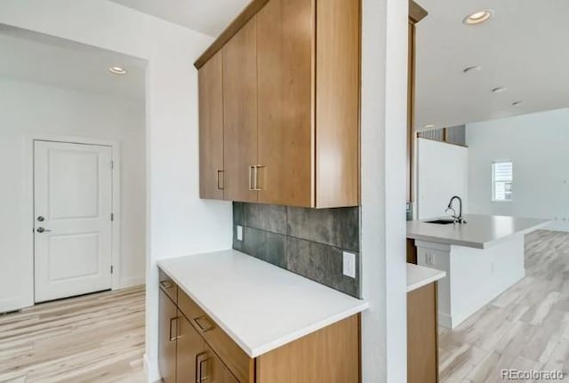
{"type": "Polygon", "coordinates": [[[455,328],[525,276],[525,235],[548,220],[465,214],[464,224],[407,222],[417,264],[444,270],[439,282],[438,321],[455,328]]]}

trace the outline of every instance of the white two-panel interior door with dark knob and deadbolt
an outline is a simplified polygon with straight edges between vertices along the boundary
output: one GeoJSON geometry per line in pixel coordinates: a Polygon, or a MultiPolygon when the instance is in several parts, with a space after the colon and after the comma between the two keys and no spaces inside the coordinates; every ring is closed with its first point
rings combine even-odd
{"type": "Polygon", "coordinates": [[[34,142],[36,302],[111,288],[112,148],[34,142]]]}

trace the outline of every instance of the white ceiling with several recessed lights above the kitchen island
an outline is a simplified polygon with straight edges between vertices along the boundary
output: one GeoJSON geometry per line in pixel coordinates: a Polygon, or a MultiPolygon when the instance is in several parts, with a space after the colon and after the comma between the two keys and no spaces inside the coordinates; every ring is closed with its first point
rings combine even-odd
{"type": "Polygon", "coordinates": [[[417,26],[417,129],[569,107],[568,1],[416,1],[429,12],[417,26]],[[484,9],[492,19],[462,23],[484,9]],[[482,70],[464,74],[470,66],[482,70]]]}

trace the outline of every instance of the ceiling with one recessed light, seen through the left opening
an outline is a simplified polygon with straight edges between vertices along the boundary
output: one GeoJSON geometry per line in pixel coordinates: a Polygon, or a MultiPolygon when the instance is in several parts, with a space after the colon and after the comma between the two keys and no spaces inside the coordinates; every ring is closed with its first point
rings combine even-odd
{"type": "Polygon", "coordinates": [[[144,60],[0,24],[0,77],[144,100],[144,60]],[[108,71],[127,69],[124,76],[108,71]]]}

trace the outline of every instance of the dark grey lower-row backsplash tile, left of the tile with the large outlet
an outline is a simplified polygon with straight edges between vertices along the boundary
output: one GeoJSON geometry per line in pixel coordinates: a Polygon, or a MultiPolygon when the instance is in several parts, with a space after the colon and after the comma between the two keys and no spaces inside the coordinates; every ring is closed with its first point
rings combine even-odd
{"type": "Polygon", "coordinates": [[[243,251],[278,267],[286,268],[286,236],[244,227],[243,251]]]}

